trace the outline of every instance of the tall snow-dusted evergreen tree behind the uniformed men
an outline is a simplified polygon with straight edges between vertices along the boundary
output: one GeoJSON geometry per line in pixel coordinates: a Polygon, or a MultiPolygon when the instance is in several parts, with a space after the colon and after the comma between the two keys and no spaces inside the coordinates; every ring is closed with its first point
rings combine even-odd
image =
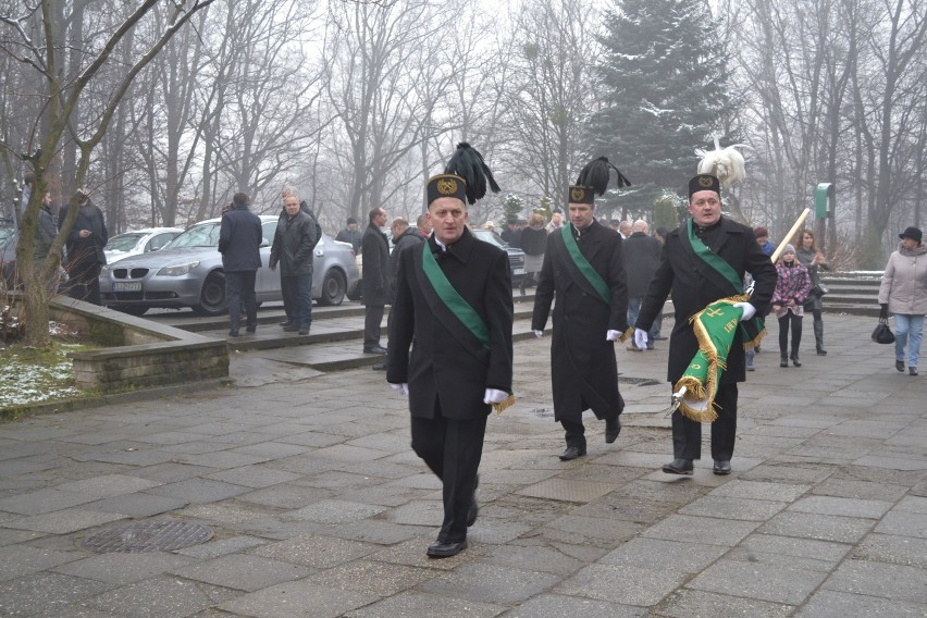
{"type": "Polygon", "coordinates": [[[662,190],[684,193],[695,149],[724,135],[729,62],[704,0],[615,0],[605,25],[590,143],[633,183],[622,202],[646,212],[662,190]]]}

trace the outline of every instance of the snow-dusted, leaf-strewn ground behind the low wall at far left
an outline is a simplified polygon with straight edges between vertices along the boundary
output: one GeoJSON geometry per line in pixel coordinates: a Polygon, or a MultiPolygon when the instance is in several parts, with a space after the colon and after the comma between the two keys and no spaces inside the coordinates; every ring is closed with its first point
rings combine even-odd
{"type": "Polygon", "coordinates": [[[67,353],[90,349],[62,324],[50,324],[52,345],[36,349],[0,344],[0,410],[81,395],[67,353]]]}

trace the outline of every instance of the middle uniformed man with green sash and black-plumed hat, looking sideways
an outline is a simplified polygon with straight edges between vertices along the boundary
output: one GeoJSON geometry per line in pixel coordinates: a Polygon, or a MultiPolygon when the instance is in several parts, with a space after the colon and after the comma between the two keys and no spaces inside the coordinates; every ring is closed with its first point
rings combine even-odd
{"type": "MultiPolygon", "coordinates": [[[[557,297],[551,373],[554,418],[566,430],[567,448],[560,455],[565,461],[585,455],[583,410],[592,408],[596,418],[605,420],[606,443],[615,442],[621,431],[618,416],[625,400],[618,392],[614,342],[623,341],[628,330],[628,279],[621,237],[595,220],[594,194],[605,193],[608,169],[606,159],[597,159],[569,188],[570,224],[547,238],[534,294],[531,329],[539,337],[557,297]],[[579,261],[568,242],[582,254],[579,261]],[[583,274],[583,261],[594,271],[592,280],[583,274]]],[[[623,178],[620,172],[619,177],[623,178]]]]}

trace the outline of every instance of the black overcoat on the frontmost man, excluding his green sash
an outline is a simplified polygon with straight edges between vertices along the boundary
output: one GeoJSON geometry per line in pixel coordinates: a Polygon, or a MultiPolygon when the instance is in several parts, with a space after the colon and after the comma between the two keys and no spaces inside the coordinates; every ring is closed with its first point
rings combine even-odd
{"type": "MultiPolygon", "coordinates": [[[[478,240],[469,230],[447,252],[427,240],[454,288],[480,314],[490,330],[484,348],[435,300],[422,270],[422,245],[399,255],[396,299],[392,308],[386,380],[409,385],[413,417],[434,418],[440,404],[444,418],[473,420],[490,412],[486,388],[511,392],[511,274],[508,255],[478,240]],[[411,351],[409,350],[411,346],[411,351]]],[[[364,256],[366,259],[366,256],[364,256]]]]}

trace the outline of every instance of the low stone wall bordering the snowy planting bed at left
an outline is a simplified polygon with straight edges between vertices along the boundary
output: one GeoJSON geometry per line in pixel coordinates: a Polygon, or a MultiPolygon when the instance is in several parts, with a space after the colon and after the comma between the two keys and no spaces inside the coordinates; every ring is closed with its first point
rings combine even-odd
{"type": "Polygon", "coordinates": [[[51,318],[104,349],[73,353],[74,379],[103,393],[228,376],[228,346],[214,339],[64,296],[51,318]]]}

